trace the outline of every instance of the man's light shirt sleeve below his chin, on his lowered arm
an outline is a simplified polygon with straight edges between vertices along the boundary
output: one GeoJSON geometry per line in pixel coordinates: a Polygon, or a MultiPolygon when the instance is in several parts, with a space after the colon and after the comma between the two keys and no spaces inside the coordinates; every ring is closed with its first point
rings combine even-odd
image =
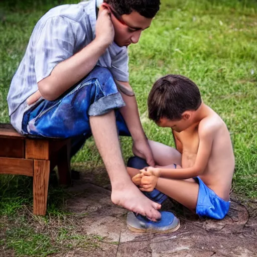
{"type": "Polygon", "coordinates": [[[110,71],[116,80],[129,81],[129,56],[125,47],[112,60],[110,71]]]}

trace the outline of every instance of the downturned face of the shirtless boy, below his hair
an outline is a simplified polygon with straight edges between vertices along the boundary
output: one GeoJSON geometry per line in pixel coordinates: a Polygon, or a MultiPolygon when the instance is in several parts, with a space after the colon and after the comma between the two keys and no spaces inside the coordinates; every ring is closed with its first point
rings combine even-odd
{"type": "Polygon", "coordinates": [[[157,125],[161,127],[170,127],[172,130],[176,132],[182,132],[191,125],[191,121],[190,121],[190,117],[188,116],[186,117],[182,116],[181,119],[177,119],[177,120],[160,118],[160,120],[157,122],[157,125]]]}

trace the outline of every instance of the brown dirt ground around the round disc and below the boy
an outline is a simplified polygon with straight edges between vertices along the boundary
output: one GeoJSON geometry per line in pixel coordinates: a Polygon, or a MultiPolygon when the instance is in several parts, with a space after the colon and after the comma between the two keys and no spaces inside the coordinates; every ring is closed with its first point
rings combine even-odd
{"type": "Polygon", "coordinates": [[[68,210],[86,213],[76,232],[104,239],[93,251],[76,249],[54,256],[257,256],[257,201],[241,203],[231,194],[230,211],[219,221],[200,219],[180,204],[167,200],[162,209],[177,215],[181,222],[179,230],[140,234],[126,228],[127,211],[111,203],[103,169],[81,172],[80,180],[67,190],[75,195],[67,202],[68,210]]]}

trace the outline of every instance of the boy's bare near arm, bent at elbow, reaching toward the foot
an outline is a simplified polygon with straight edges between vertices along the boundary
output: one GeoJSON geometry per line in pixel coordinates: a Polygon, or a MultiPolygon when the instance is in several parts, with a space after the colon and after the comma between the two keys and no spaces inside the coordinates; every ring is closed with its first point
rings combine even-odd
{"type": "Polygon", "coordinates": [[[206,124],[206,122],[199,124],[199,147],[193,167],[179,170],[149,167],[147,173],[143,171],[144,175],[150,176],[152,173],[152,175],[169,179],[188,179],[201,175],[209,161],[215,131],[215,127],[211,124],[206,124]]]}

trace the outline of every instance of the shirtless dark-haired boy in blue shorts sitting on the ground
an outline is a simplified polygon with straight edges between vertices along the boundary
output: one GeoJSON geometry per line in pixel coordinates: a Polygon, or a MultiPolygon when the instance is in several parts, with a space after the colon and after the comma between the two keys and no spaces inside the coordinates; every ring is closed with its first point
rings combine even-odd
{"type": "MultiPolygon", "coordinates": [[[[176,149],[150,142],[155,167],[127,168],[142,191],[155,188],[199,216],[222,219],[229,209],[234,155],[226,124],[201,100],[194,82],[167,75],[148,97],[149,117],[170,127],[176,149]]],[[[133,166],[132,166],[133,167],[133,166]]]]}

